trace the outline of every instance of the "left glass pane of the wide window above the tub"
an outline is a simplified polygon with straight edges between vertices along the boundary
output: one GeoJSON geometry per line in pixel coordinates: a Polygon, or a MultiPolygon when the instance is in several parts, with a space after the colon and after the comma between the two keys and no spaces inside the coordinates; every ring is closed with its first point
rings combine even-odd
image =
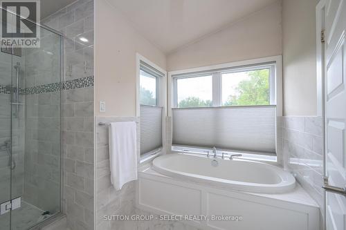
{"type": "Polygon", "coordinates": [[[177,106],[212,106],[212,75],[176,79],[177,106]]]}

